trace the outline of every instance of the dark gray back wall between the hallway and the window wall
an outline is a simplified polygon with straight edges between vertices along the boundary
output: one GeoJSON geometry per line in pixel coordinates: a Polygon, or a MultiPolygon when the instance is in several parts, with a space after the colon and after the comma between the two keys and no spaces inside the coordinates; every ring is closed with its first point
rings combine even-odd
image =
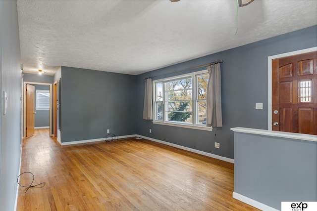
{"type": "Polygon", "coordinates": [[[136,132],[136,76],[61,68],[61,142],[136,132]]]}

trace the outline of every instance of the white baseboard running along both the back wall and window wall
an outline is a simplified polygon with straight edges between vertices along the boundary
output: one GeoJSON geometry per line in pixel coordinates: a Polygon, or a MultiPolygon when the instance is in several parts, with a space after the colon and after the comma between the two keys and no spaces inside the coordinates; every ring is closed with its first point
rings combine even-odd
{"type": "MultiPolygon", "coordinates": [[[[226,161],[226,162],[229,162],[229,163],[232,163],[232,164],[234,163],[234,160],[231,159],[231,158],[226,158],[226,157],[222,157],[222,156],[219,156],[219,155],[214,155],[214,154],[211,154],[211,153],[208,153],[208,152],[192,149],[192,148],[189,148],[189,147],[184,147],[184,146],[181,146],[181,145],[169,143],[169,142],[166,142],[166,141],[162,141],[162,140],[155,139],[155,138],[150,138],[150,137],[143,136],[143,135],[137,135],[137,134],[123,135],[123,136],[118,136],[118,139],[119,138],[131,138],[131,137],[141,137],[141,138],[144,138],[144,139],[148,139],[150,141],[155,141],[155,142],[158,142],[158,143],[161,143],[161,144],[165,144],[165,145],[168,145],[168,146],[176,147],[176,148],[183,149],[183,150],[186,150],[186,151],[189,151],[189,152],[194,152],[194,153],[197,153],[197,154],[200,154],[200,155],[204,155],[204,156],[207,156],[207,157],[211,157],[211,158],[215,158],[215,159],[218,159],[218,160],[221,160],[221,161],[226,161]]],[[[97,138],[97,139],[81,140],[81,141],[69,141],[69,142],[62,142],[60,144],[62,146],[64,146],[64,145],[71,145],[71,144],[90,143],[90,142],[95,142],[95,141],[105,141],[105,138],[97,138]]]]}

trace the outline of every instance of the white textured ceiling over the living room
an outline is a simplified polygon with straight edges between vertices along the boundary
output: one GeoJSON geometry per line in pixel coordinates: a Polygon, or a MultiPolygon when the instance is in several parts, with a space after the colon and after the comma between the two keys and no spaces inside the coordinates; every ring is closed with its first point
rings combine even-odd
{"type": "Polygon", "coordinates": [[[137,75],[317,25],[317,0],[255,0],[238,8],[238,20],[236,0],[17,0],[17,7],[23,72],[47,75],[60,66],[137,75]]]}

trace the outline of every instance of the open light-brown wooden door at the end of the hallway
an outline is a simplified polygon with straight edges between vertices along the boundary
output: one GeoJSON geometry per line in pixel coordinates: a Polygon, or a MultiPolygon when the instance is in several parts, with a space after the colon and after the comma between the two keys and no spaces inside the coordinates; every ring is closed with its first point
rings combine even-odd
{"type": "Polygon", "coordinates": [[[35,87],[26,84],[26,137],[34,135],[35,87]]]}

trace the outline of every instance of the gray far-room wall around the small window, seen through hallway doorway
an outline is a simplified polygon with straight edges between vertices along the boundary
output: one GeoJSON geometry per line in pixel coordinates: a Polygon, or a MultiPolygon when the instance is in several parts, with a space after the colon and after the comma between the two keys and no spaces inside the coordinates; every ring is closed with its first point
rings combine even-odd
{"type": "MultiPolygon", "coordinates": [[[[35,93],[37,89],[50,90],[50,86],[48,85],[34,85],[34,87],[35,87],[35,93]]],[[[36,97],[35,97],[35,101],[36,101],[36,97]]],[[[35,112],[36,114],[34,115],[34,127],[50,127],[50,110],[36,109],[35,112]]]]}

